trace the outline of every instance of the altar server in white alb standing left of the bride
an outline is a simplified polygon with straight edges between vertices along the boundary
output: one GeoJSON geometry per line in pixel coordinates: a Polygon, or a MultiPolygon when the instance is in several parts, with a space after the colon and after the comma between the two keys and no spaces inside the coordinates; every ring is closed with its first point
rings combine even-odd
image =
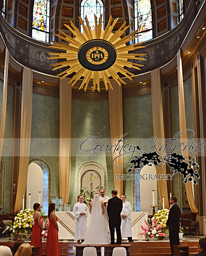
{"type": "Polygon", "coordinates": [[[74,240],[77,240],[77,242],[82,242],[85,239],[85,232],[87,229],[87,217],[89,216],[89,209],[86,206],[85,203],[82,203],[83,196],[78,195],[77,197],[77,203],[74,204],[73,213],[75,217],[75,234],[74,234],[74,240]]]}

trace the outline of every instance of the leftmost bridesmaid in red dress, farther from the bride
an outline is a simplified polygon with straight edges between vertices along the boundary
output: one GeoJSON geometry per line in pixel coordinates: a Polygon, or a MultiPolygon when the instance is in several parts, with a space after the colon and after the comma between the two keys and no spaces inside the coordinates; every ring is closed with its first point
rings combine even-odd
{"type": "Polygon", "coordinates": [[[34,246],[41,246],[40,247],[40,256],[42,256],[42,237],[41,237],[41,232],[42,232],[42,225],[41,225],[41,216],[39,214],[39,211],[41,210],[41,205],[38,203],[35,203],[33,205],[34,209],[34,225],[32,228],[32,234],[31,234],[31,245],[34,246]]]}

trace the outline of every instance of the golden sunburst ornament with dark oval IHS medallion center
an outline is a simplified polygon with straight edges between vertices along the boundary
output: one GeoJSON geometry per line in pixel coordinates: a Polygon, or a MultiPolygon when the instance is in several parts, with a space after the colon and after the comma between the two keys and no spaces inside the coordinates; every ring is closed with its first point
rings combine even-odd
{"type": "Polygon", "coordinates": [[[140,70],[139,67],[143,65],[132,63],[128,61],[128,59],[145,60],[138,56],[146,55],[142,53],[128,53],[129,51],[144,47],[140,45],[142,43],[126,45],[127,42],[138,37],[134,36],[137,33],[137,30],[121,39],[121,36],[130,27],[130,25],[125,27],[126,22],[124,22],[124,24],[121,25],[115,33],[112,33],[118,18],[115,19],[111,25],[112,16],[110,16],[105,30],[101,30],[102,15],[99,18],[99,24],[97,24],[97,18],[95,16],[95,30],[91,30],[87,17],[85,17],[86,26],[80,17],[79,20],[85,31],[84,33],[81,33],[74,23],[70,21],[73,29],[69,25],[65,24],[65,26],[74,34],[74,39],[71,36],[67,36],[60,30],[59,32],[61,35],[55,34],[55,36],[69,42],[69,45],[52,41],[54,45],[49,46],[58,50],[66,51],[66,53],[49,53],[50,55],[53,55],[53,57],[50,57],[49,59],[66,59],[66,61],[63,62],[51,64],[51,66],[56,66],[53,70],[69,66],[69,69],[58,74],[61,76],[60,79],[63,79],[69,74],[75,72],[76,74],[72,77],[69,83],[72,83],[72,86],[74,86],[81,77],[84,77],[79,89],[84,87],[85,91],[87,90],[90,80],[93,80],[93,91],[95,89],[100,91],[100,80],[104,81],[106,90],[108,90],[108,86],[113,89],[110,83],[110,77],[113,78],[120,86],[121,83],[126,84],[124,80],[119,77],[117,74],[118,72],[123,74],[124,77],[132,80],[131,76],[136,75],[124,69],[124,66],[140,70]]]}

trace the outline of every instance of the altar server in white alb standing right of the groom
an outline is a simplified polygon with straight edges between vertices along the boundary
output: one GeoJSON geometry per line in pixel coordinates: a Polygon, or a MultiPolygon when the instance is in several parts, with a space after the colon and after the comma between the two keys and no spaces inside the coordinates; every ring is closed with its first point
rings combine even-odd
{"type": "Polygon", "coordinates": [[[121,237],[127,237],[129,242],[133,242],[131,227],[132,206],[129,202],[126,202],[126,195],[122,195],[121,200],[123,201],[123,208],[121,211],[121,237]]]}

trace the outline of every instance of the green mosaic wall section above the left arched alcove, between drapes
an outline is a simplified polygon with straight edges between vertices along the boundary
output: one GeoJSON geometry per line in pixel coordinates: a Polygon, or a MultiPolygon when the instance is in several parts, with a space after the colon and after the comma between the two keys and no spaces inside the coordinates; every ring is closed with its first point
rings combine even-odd
{"type": "Polygon", "coordinates": [[[59,196],[59,98],[33,94],[30,158],[46,161],[52,172],[51,195],[59,196]]]}

